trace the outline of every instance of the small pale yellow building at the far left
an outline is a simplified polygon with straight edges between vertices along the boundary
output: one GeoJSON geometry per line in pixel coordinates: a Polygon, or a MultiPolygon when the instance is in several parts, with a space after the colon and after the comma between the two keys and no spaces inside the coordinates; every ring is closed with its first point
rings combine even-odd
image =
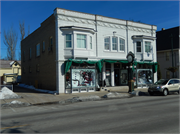
{"type": "Polygon", "coordinates": [[[21,61],[0,60],[1,84],[12,83],[15,76],[21,75],[21,61]]]}

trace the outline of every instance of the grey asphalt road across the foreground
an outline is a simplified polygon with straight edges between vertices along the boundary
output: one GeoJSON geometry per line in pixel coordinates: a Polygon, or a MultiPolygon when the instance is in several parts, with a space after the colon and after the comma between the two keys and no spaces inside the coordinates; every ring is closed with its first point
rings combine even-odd
{"type": "Polygon", "coordinates": [[[2,133],[179,133],[179,95],[1,110],[2,133]]]}

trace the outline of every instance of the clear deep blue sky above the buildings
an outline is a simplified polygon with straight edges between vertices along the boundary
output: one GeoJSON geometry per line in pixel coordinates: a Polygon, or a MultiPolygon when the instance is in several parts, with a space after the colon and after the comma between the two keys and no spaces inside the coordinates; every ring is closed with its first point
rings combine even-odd
{"type": "Polygon", "coordinates": [[[1,31],[1,59],[7,56],[4,45],[4,30],[13,26],[18,33],[16,59],[20,52],[19,22],[24,21],[26,35],[28,27],[30,33],[53,14],[56,7],[78,12],[97,14],[123,20],[140,21],[145,24],[156,25],[157,31],[179,26],[179,1],[14,1],[0,0],[0,31],[1,31]]]}

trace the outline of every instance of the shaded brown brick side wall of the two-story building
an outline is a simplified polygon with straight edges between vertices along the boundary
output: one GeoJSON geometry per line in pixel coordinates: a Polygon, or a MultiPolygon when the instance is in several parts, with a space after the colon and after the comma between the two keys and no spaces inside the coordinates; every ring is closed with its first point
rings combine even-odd
{"type": "Polygon", "coordinates": [[[21,69],[22,82],[25,84],[38,85],[39,89],[56,90],[56,51],[55,51],[55,18],[51,15],[41,27],[26,37],[21,42],[21,69]],[[50,37],[53,37],[52,51],[48,51],[50,37]],[[42,51],[43,41],[45,41],[45,51],[42,51]],[[36,45],[40,43],[40,56],[36,56],[36,45]],[[29,59],[29,49],[31,48],[31,59],[29,59]],[[23,52],[25,51],[25,59],[23,52]],[[39,64],[39,72],[36,66],[39,64]],[[29,72],[31,67],[31,72],[29,72]],[[25,69],[25,72],[23,72],[25,69]]]}

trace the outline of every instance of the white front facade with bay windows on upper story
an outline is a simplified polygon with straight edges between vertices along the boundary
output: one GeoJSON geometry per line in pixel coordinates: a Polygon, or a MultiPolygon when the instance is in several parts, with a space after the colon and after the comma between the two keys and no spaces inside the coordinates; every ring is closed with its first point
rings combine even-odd
{"type": "MultiPolygon", "coordinates": [[[[57,90],[59,93],[65,92],[63,63],[69,58],[87,60],[126,60],[128,52],[132,51],[135,54],[136,61],[157,61],[155,38],[157,27],[154,25],[60,8],[54,10],[54,15],[56,18],[56,78],[57,90]],[[69,40],[67,38],[69,38],[69,40]],[[78,38],[79,42],[81,42],[81,46],[77,44],[78,38]],[[105,38],[107,39],[106,45],[107,48],[109,46],[109,49],[105,49],[105,38]],[[120,46],[120,40],[125,42],[122,46],[120,46]],[[139,44],[137,42],[139,42],[139,44]],[[68,44],[68,47],[66,47],[66,44],[68,44]],[[123,45],[124,49],[122,49],[123,45]],[[148,52],[146,49],[148,49],[148,52]]],[[[112,86],[114,85],[113,66],[114,64],[112,63],[112,86]]],[[[104,71],[102,74],[103,79],[105,79],[106,76],[104,71]]],[[[154,81],[156,80],[157,74],[154,73],[154,81]]]]}

